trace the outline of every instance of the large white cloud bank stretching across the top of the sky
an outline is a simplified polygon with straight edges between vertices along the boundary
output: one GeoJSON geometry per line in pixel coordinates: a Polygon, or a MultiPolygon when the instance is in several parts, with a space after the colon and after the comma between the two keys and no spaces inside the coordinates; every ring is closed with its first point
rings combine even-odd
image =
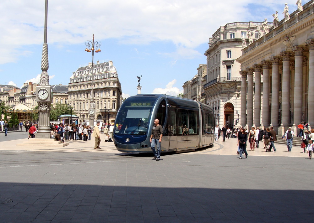
{"type": "MultiPolygon", "coordinates": [[[[292,0],[287,2],[289,11],[293,12],[295,4],[292,0]]],[[[271,7],[274,11],[284,8],[284,3],[274,3],[273,0],[89,0],[89,5],[97,5],[97,12],[106,13],[89,11],[84,0],[49,1],[48,44],[68,48],[70,44],[91,39],[91,34],[95,33],[95,39],[118,39],[120,44],[170,42],[176,46],[174,53],[168,53],[170,57],[194,58],[203,54],[195,48],[206,43],[220,25],[252,18],[271,21],[272,16],[265,15],[268,13],[265,8],[271,7]],[[264,14],[252,15],[249,4],[254,4],[264,14]]],[[[27,46],[42,44],[44,7],[41,0],[15,1],[14,4],[9,0],[0,2],[0,44],[9,46],[3,47],[0,64],[31,54],[27,46]]]]}

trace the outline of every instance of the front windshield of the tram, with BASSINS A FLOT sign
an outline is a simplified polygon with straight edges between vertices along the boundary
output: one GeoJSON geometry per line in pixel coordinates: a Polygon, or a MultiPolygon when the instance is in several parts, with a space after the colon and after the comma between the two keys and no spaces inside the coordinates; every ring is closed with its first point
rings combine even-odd
{"type": "Polygon", "coordinates": [[[130,98],[116,118],[116,134],[146,135],[156,98],[130,98]]]}

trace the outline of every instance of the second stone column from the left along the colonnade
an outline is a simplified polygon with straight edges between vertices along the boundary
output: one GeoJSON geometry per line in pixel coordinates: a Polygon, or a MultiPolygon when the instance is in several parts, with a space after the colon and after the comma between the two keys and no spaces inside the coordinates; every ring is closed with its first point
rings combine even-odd
{"type": "Polygon", "coordinates": [[[246,125],[251,129],[253,125],[253,68],[247,68],[247,118],[246,125]]]}

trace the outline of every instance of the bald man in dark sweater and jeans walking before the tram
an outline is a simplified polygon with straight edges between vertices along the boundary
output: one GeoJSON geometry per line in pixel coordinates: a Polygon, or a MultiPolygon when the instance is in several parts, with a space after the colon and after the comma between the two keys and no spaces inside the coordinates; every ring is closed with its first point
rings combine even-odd
{"type": "Polygon", "coordinates": [[[160,160],[160,143],[161,143],[161,138],[162,138],[162,127],[159,124],[159,120],[155,119],[154,120],[154,126],[152,128],[152,132],[150,134],[150,143],[151,143],[151,149],[154,153],[154,158],[153,160],[160,160]],[[156,151],[157,147],[157,151],[156,151]]]}

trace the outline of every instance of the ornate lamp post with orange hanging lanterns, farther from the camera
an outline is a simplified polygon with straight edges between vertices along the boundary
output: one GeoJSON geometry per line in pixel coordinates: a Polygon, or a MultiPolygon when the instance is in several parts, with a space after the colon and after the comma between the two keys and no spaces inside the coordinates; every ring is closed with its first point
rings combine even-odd
{"type": "Polygon", "coordinates": [[[85,51],[90,53],[92,52],[92,90],[90,93],[90,106],[89,106],[89,110],[88,110],[88,114],[89,114],[89,125],[90,127],[94,128],[94,118],[95,118],[95,103],[94,103],[94,51],[95,53],[100,52],[100,45],[101,42],[100,41],[95,41],[94,40],[94,34],[93,34],[93,40],[87,40],[85,42],[86,45],[86,49],[85,51]],[[95,50],[96,48],[96,50],[95,50]],[[98,48],[98,49],[97,49],[98,48]]]}

